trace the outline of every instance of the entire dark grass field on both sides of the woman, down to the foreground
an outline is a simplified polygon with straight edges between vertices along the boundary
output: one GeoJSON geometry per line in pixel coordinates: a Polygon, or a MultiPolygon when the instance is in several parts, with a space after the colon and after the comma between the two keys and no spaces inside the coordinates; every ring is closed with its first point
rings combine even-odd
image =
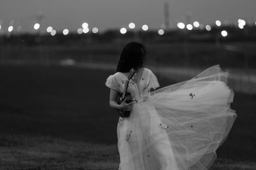
{"type": "MultiPolygon", "coordinates": [[[[104,85],[113,73],[1,65],[0,167],[47,169],[51,162],[56,169],[115,169],[118,115],[108,106],[109,89],[104,85]]],[[[175,83],[157,77],[161,87],[175,83]]],[[[217,150],[214,169],[256,169],[255,102],[256,96],[236,92],[232,109],[238,117],[217,150]]]]}

